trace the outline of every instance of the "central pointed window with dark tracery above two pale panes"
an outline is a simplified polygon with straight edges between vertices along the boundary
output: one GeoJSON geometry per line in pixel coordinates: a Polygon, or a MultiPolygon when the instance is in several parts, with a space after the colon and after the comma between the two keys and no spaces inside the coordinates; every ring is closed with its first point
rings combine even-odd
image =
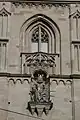
{"type": "Polygon", "coordinates": [[[31,41],[32,52],[48,52],[49,35],[42,26],[39,25],[33,30],[31,41]]]}

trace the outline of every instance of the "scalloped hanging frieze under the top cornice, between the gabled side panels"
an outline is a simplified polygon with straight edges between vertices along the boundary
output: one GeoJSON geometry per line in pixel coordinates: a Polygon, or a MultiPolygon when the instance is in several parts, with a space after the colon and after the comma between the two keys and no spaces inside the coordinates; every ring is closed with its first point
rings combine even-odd
{"type": "Polygon", "coordinates": [[[18,8],[19,6],[22,6],[22,8],[25,8],[28,6],[29,8],[36,7],[38,8],[41,6],[43,9],[47,6],[49,8],[54,7],[69,7],[69,3],[64,2],[50,2],[50,1],[12,1],[12,4],[18,8]]]}

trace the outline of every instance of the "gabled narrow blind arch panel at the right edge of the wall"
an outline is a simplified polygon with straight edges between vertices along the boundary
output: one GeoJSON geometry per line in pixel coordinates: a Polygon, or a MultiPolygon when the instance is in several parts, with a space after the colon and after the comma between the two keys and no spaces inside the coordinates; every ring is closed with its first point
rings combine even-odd
{"type": "Polygon", "coordinates": [[[72,52],[74,59],[74,72],[80,71],[80,11],[76,10],[72,15],[70,15],[72,20],[72,52]]]}

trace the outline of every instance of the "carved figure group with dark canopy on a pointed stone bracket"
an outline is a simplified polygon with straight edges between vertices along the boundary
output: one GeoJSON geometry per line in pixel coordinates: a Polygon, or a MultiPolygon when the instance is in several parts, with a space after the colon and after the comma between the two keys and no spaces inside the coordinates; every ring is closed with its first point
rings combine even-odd
{"type": "Polygon", "coordinates": [[[30,101],[28,109],[33,115],[34,112],[41,116],[44,112],[46,115],[51,110],[53,103],[50,100],[50,79],[47,73],[41,69],[33,73],[30,82],[30,101]]]}

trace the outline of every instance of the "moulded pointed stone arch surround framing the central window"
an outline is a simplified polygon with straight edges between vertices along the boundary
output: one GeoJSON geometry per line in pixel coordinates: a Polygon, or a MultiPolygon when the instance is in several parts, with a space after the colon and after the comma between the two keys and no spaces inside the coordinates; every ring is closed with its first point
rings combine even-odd
{"type": "Polygon", "coordinates": [[[24,22],[20,29],[20,51],[31,52],[32,30],[37,26],[42,26],[49,35],[49,53],[61,52],[60,30],[55,22],[43,14],[37,14],[24,22]]]}

